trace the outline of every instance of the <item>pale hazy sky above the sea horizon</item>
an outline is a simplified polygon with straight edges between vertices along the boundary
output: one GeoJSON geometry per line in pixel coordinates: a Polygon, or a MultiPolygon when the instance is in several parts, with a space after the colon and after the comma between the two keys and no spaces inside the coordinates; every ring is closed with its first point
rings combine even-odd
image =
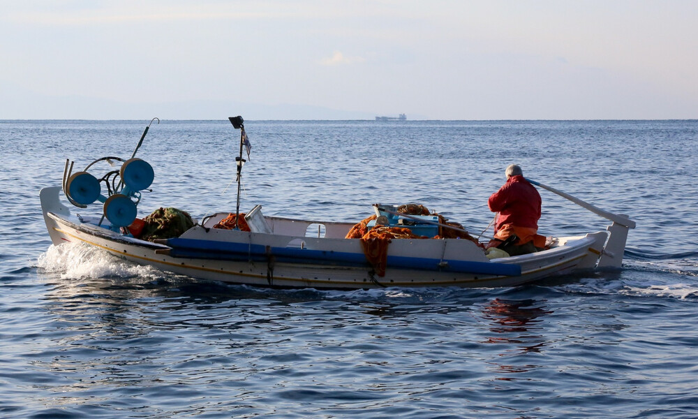
{"type": "Polygon", "coordinates": [[[0,0],[0,119],[698,119],[694,0],[0,0]]]}

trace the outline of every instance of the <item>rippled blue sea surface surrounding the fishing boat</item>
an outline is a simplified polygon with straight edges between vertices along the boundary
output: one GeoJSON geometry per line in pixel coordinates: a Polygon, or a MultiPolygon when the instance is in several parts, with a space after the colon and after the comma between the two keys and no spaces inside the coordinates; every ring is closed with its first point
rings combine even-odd
{"type": "MultiPolygon", "coordinates": [[[[130,157],[148,122],[0,122],[0,418],[698,418],[698,121],[246,122],[241,210],[422,203],[477,235],[519,163],[637,221],[618,272],[353,292],[52,246],[39,190],[66,159],[130,157]]],[[[235,210],[238,141],[225,119],[153,124],[139,215],[235,210]]],[[[607,225],[541,196],[542,234],[607,225]]]]}

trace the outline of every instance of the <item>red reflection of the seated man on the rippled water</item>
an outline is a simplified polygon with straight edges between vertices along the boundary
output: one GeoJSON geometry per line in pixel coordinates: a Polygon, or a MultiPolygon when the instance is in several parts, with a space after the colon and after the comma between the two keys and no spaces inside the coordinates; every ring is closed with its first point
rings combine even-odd
{"type": "MultiPolygon", "coordinates": [[[[526,300],[502,300],[495,298],[482,310],[484,318],[491,321],[489,330],[496,333],[486,339],[485,344],[507,345],[500,357],[506,359],[520,358],[520,355],[540,353],[547,344],[540,327],[542,316],[551,314],[542,302],[526,300]],[[509,347],[511,346],[511,347],[509,347]],[[519,355],[519,356],[517,356],[519,355]]],[[[517,374],[530,372],[538,365],[523,364],[509,365],[493,362],[500,372],[505,374],[517,374]]],[[[498,378],[500,380],[512,380],[512,378],[498,378]]]]}

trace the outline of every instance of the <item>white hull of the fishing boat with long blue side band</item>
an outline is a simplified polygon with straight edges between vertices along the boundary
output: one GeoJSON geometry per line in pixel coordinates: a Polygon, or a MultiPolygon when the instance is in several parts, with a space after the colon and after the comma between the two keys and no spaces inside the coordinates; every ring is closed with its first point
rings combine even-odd
{"type": "MultiPolygon", "coordinates": [[[[306,237],[313,221],[269,217],[274,232],[195,226],[168,244],[125,237],[70,214],[60,187],[40,193],[52,242],[82,242],[140,265],[188,277],[252,286],[357,289],[381,287],[517,286],[575,270],[592,270],[609,233],[560,237],[558,246],[488,260],[468,240],[393,240],[385,276],[366,261],[358,239],[339,238],[350,224],[325,223],[325,237],[306,237]],[[327,238],[330,237],[330,238],[327,238]],[[338,237],[338,238],[331,238],[338,237]]],[[[624,243],[623,243],[624,244],[624,243]]]]}

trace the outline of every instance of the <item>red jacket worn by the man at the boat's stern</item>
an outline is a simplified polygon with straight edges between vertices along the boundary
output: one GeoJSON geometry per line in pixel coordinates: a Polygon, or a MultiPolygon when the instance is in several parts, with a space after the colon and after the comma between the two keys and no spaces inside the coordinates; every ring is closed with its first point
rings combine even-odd
{"type": "Polygon", "coordinates": [[[499,212],[495,231],[505,224],[538,228],[540,194],[523,176],[507,179],[507,183],[489,197],[487,205],[492,212],[499,212]]]}

